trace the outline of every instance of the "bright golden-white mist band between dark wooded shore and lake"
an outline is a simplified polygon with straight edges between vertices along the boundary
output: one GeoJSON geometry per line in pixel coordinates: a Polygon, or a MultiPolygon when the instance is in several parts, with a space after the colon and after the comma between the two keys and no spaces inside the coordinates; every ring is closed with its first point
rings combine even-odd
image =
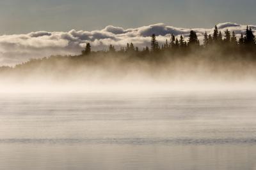
{"type": "MultiPolygon", "coordinates": [[[[207,55],[210,55],[210,53],[207,55]]],[[[157,56],[156,56],[157,57],[157,56]]],[[[0,71],[0,92],[255,90],[253,60],[221,55],[139,59],[107,53],[56,56],[0,71]]]]}

